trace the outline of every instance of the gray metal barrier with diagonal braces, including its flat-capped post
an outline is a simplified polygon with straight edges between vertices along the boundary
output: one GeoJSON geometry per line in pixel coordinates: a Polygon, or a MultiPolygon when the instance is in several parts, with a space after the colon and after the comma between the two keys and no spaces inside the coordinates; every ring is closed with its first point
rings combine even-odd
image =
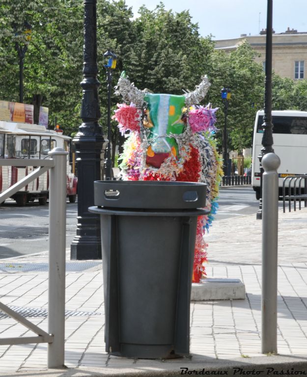
{"type": "Polygon", "coordinates": [[[0,203],[50,169],[48,333],[0,302],[1,311],[37,334],[0,338],[0,345],[48,343],[48,368],[64,366],[67,154],[62,148],[54,148],[49,152],[50,160],[0,159],[0,166],[37,166],[28,176],[2,192],[0,203]]]}

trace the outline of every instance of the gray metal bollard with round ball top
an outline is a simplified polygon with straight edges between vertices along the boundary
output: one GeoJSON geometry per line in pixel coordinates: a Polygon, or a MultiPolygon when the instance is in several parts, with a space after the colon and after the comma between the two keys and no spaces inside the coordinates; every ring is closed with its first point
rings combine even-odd
{"type": "Polygon", "coordinates": [[[262,353],[277,353],[278,173],[275,153],[262,158],[262,353]]]}

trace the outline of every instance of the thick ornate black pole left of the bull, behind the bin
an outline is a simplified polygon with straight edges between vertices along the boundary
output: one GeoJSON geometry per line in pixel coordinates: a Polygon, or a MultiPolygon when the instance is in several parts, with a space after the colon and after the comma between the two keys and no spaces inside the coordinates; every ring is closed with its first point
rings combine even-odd
{"type": "Polygon", "coordinates": [[[100,160],[104,144],[98,123],[100,108],[97,80],[97,0],[84,0],[84,66],[81,118],[83,123],[73,139],[78,163],[78,224],[71,244],[71,259],[101,259],[99,216],[88,212],[94,205],[94,181],[100,180],[100,160]]]}

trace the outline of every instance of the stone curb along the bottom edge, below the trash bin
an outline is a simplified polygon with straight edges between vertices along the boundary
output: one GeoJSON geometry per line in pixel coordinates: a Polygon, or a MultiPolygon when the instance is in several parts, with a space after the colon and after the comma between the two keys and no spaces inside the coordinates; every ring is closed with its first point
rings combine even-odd
{"type": "MultiPolygon", "coordinates": [[[[197,356],[196,356],[197,357],[197,356]]],[[[123,359],[125,360],[125,359],[123,359]]],[[[72,369],[45,369],[20,371],[17,373],[0,373],[0,376],[32,376],[32,377],[167,377],[167,376],[294,376],[307,375],[307,357],[292,356],[259,356],[233,360],[213,360],[193,362],[189,358],[177,360],[140,360],[136,367],[104,367],[72,369]],[[174,363],[177,365],[175,366],[174,363]]]]}

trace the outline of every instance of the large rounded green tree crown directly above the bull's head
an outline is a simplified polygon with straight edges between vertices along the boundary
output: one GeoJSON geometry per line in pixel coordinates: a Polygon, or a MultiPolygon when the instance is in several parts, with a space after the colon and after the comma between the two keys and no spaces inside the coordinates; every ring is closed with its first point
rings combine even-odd
{"type": "Polygon", "coordinates": [[[188,11],[173,13],[161,2],[154,10],[142,6],[139,13],[133,22],[137,42],[129,76],[140,89],[156,93],[193,90],[208,71],[211,38],[199,36],[188,11]]]}

